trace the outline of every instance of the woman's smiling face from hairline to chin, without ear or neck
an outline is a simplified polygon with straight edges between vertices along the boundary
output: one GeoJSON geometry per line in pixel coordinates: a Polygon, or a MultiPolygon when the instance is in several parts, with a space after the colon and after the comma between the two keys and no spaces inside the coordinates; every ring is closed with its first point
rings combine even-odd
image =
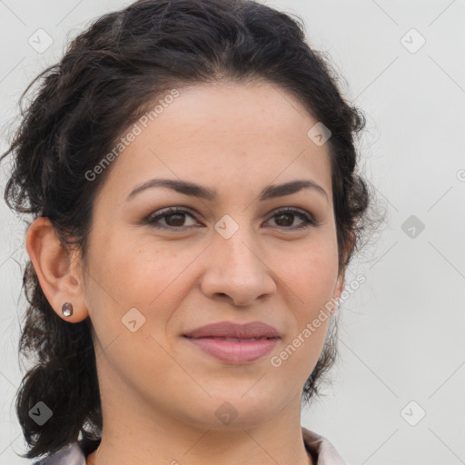
{"type": "Polygon", "coordinates": [[[328,145],[312,142],[317,121],[272,84],[179,92],[137,123],[94,201],[83,295],[104,409],[209,428],[223,427],[224,414],[235,417],[229,428],[298,414],[329,319],[303,331],[342,284],[328,145]],[[155,178],[213,195],[137,190],[155,178]],[[313,187],[261,198],[296,181],[313,187]],[[168,207],[182,212],[154,218],[168,207]],[[215,322],[263,322],[279,339],[207,342],[214,356],[185,337],[215,322]]]}

